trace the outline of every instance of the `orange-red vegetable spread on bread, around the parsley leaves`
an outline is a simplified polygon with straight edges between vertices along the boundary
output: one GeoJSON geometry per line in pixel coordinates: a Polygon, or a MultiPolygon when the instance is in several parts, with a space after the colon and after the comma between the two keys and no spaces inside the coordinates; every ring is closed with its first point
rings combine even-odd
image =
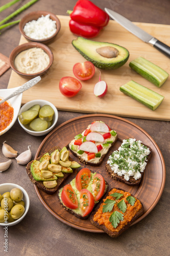
{"type": "Polygon", "coordinates": [[[132,205],[127,200],[128,197],[131,197],[130,193],[128,193],[124,190],[113,188],[111,191],[109,191],[108,196],[105,199],[103,199],[103,203],[100,205],[98,211],[96,211],[96,213],[93,217],[93,220],[95,222],[98,222],[99,225],[104,225],[108,230],[110,230],[112,232],[115,232],[115,231],[119,232],[129,222],[132,221],[132,219],[136,216],[137,212],[142,208],[142,204],[138,199],[133,197],[135,202],[134,202],[134,205],[132,205]],[[114,193],[122,194],[122,197],[120,197],[119,199],[116,199],[115,197],[112,196],[114,193]],[[103,212],[104,211],[103,206],[106,205],[105,204],[106,200],[114,200],[115,203],[113,205],[112,210],[103,212]],[[122,212],[121,208],[119,207],[119,205],[121,204],[120,201],[122,201],[122,200],[124,200],[125,204],[126,204],[126,206],[125,206],[126,210],[124,213],[122,212]],[[120,220],[119,223],[117,223],[116,227],[114,227],[112,225],[112,222],[110,221],[111,220],[110,217],[115,211],[119,212],[120,214],[123,214],[122,220],[120,220]]]}

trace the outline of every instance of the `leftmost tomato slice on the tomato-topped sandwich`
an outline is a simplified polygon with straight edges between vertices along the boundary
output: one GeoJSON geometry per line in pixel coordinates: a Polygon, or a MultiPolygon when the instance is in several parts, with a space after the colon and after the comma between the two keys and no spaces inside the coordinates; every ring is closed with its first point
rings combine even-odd
{"type": "Polygon", "coordinates": [[[63,204],[65,204],[65,206],[67,206],[70,209],[78,208],[77,196],[70,184],[67,184],[63,187],[63,190],[61,192],[61,200],[63,204]]]}

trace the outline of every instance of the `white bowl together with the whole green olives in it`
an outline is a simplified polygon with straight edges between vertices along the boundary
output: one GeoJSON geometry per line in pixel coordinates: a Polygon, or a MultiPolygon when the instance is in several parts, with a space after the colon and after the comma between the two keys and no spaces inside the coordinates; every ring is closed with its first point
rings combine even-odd
{"type": "Polygon", "coordinates": [[[13,226],[25,218],[30,207],[26,190],[13,183],[0,184],[0,226],[13,226]]]}

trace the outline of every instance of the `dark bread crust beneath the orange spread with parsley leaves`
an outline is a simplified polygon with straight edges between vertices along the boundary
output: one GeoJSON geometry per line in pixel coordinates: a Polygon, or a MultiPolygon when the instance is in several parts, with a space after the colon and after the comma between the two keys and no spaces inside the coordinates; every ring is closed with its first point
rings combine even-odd
{"type": "MultiPolygon", "coordinates": [[[[111,188],[111,189],[109,190],[109,192],[110,192],[112,189],[113,189],[113,188],[111,188]]],[[[116,188],[116,189],[126,191],[126,190],[124,190],[124,189],[122,189],[122,188],[116,188]]],[[[107,194],[106,197],[107,197],[108,195],[109,195],[109,194],[107,194]]],[[[131,196],[134,197],[132,194],[131,194],[131,196]]],[[[106,197],[105,197],[105,198],[106,198],[106,197]]],[[[136,197],[134,197],[134,198],[136,198],[136,197]]],[[[138,198],[136,198],[136,199],[138,199],[138,198]]],[[[139,200],[139,199],[138,199],[138,200],[139,200]]],[[[140,201],[140,200],[139,200],[139,201],[140,201]]],[[[103,201],[102,201],[101,203],[103,203],[103,201]]],[[[137,214],[132,218],[132,220],[131,220],[130,222],[128,222],[128,224],[125,225],[125,226],[124,226],[121,230],[119,230],[118,232],[117,232],[117,231],[111,231],[111,230],[109,230],[105,225],[100,225],[97,221],[94,221],[94,220],[93,220],[94,215],[95,215],[96,211],[98,211],[98,209],[99,209],[101,203],[98,205],[98,207],[95,209],[95,211],[92,212],[90,221],[91,221],[91,223],[92,223],[95,227],[98,227],[99,229],[102,229],[104,232],[106,232],[106,233],[107,233],[110,237],[112,237],[112,238],[116,238],[116,237],[120,236],[120,234],[122,234],[125,230],[127,230],[127,229],[130,227],[130,225],[131,225],[133,222],[135,222],[135,220],[137,220],[137,219],[138,219],[141,215],[143,215],[143,213],[144,213],[143,204],[140,202],[141,205],[142,205],[142,207],[141,207],[141,209],[137,212],[137,214]]]]}

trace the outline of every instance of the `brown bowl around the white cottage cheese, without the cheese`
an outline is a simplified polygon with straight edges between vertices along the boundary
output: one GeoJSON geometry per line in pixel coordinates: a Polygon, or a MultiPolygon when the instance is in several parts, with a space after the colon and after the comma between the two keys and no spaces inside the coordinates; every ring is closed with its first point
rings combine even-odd
{"type": "Polygon", "coordinates": [[[57,18],[57,16],[52,13],[52,12],[47,12],[47,11],[35,11],[35,12],[30,12],[28,13],[26,16],[24,16],[21,20],[20,20],[20,23],[19,23],[19,31],[20,33],[28,40],[28,41],[33,41],[33,42],[41,42],[42,44],[49,44],[51,41],[53,41],[58,32],[60,31],[60,20],[57,18]],[[33,38],[30,38],[29,36],[27,36],[25,34],[25,32],[23,32],[23,28],[25,27],[26,23],[28,22],[31,22],[32,20],[37,20],[39,17],[41,17],[42,15],[43,16],[46,16],[47,14],[50,14],[50,18],[52,20],[55,20],[56,21],[56,27],[57,27],[57,30],[55,32],[54,35],[52,35],[51,37],[48,37],[48,38],[45,38],[45,39],[33,39],[33,38]]]}

